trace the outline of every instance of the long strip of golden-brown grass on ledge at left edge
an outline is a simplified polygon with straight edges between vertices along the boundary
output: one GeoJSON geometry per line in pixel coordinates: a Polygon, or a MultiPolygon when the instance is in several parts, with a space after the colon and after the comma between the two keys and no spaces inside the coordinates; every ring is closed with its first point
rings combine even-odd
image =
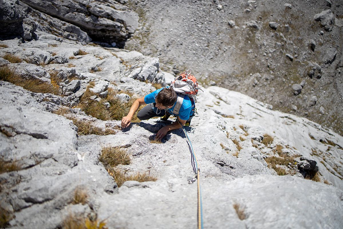
{"type": "Polygon", "coordinates": [[[39,79],[25,79],[16,72],[15,67],[3,66],[0,67],[0,80],[13,83],[25,90],[37,93],[52,93],[59,94],[58,88],[48,82],[39,79]]]}

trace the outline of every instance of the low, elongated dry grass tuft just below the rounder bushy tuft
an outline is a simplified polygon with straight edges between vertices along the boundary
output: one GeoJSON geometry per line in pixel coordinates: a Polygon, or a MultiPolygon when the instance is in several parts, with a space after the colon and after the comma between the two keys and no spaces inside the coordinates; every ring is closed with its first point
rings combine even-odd
{"type": "Polygon", "coordinates": [[[107,171],[111,176],[113,176],[118,187],[120,187],[125,181],[145,182],[145,181],[156,181],[157,180],[153,176],[150,176],[149,173],[147,173],[147,172],[145,172],[145,173],[137,172],[135,174],[128,175],[126,172],[123,172],[119,169],[107,168],[107,171]]]}

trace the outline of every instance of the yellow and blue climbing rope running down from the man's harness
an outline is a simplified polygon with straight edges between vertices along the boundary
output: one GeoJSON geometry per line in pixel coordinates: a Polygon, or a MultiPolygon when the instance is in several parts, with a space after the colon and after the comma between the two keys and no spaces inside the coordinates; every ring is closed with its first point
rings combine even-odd
{"type": "Polygon", "coordinates": [[[202,201],[201,201],[201,187],[200,187],[200,168],[198,165],[198,160],[197,160],[197,156],[194,153],[193,150],[193,146],[191,143],[191,140],[189,139],[187,132],[184,128],[184,126],[179,122],[179,124],[182,126],[182,129],[184,130],[184,133],[188,139],[187,144],[188,144],[188,148],[189,151],[191,152],[192,155],[192,159],[191,159],[191,164],[192,164],[192,168],[193,168],[193,172],[196,173],[194,174],[194,178],[192,180],[189,181],[189,183],[193,183],[195,180],[198,180],[198,229],[203,229],[203,225],[202,225],[202,201]]]}

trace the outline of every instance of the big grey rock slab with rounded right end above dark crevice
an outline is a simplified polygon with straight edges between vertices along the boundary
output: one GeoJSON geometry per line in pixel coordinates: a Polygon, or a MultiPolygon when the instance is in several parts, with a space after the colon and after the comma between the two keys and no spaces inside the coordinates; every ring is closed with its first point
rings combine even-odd
{"type": "Polygon", "coordinates": [[[23,2],[38,11],[76,25],[90,37],[107,43],[124,41],[138,27],[138,14],[113,0],[103,3],[81,0],[23,2]]]}

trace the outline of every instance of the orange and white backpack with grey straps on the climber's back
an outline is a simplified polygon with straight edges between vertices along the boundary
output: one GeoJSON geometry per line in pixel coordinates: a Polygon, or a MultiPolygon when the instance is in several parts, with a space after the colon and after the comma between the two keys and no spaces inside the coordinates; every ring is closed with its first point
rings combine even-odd
{"type": "Polygon", "coordinates": [[[177,93],[177,101],[173,109],[173,113],[175,115],[179,114],[184,97],[187,95],[192,103],[193,115],[195,112],[194,98],[197,96],[200,88],[198,88],[197,78],[191,74],[191,69],[182,72],[178,77],[176,77],[175,80],[170,83],[170,87],[177,93]]]}

